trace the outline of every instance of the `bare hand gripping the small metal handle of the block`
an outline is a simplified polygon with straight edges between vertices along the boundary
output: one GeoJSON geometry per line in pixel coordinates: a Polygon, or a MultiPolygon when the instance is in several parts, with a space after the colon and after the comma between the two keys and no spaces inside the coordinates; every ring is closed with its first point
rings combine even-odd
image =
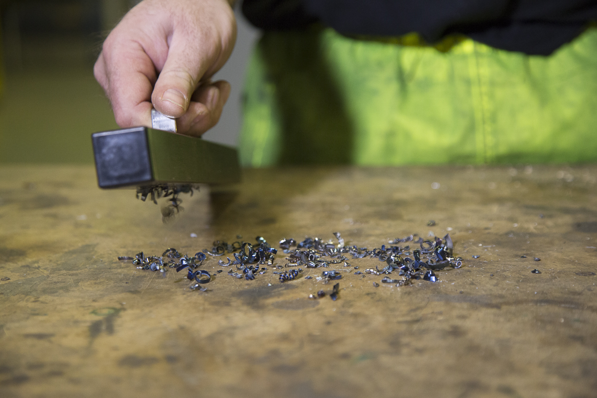
{"type": "Polygon", "coordinates": [[[228,82],[210,77],[235,40],[226,0],[144,0],[110,32],[93,72],[120,127],[151,127],[155,107],[177,118],[181,134],[199,136],[230,95],[228,82]]]}

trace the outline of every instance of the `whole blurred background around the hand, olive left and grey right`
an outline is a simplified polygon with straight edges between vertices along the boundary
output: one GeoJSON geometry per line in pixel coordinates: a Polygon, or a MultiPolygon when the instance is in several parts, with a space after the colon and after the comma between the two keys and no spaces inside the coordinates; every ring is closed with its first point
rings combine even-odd
{"type": "MultiPolygon", "coordinates": [[[[93,163],[90,135],[118,128],[93,78],[107,32],[135,0],[0,0],[0,163],[93,163]]],[[[204,138],[236,145],[245,64],[259,32],[236,9],[238,39],[215,79],[232,93],[204,138]]]]}

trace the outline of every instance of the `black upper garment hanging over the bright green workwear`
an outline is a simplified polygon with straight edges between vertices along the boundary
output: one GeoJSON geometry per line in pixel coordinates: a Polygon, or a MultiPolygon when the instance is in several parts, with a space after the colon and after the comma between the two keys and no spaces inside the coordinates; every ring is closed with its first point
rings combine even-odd
{"type": "Polygon", "coordinates": [[[596,0],[245,0],[243,11],[267,30],[314,21],[344,35],[418,32],[434,43],[451,33],[509,51],[549,55],[597,20],[596,0]]]}

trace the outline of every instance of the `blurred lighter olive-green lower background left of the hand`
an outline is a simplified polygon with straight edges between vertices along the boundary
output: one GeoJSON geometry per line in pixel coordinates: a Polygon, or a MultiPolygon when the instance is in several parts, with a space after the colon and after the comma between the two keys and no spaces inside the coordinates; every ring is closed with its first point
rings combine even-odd
{"type": "Polygon", "coordinates": [[[1,163],[93,163],[91,134],[113,128],[91,67],[5,75],[1,163]]]}

